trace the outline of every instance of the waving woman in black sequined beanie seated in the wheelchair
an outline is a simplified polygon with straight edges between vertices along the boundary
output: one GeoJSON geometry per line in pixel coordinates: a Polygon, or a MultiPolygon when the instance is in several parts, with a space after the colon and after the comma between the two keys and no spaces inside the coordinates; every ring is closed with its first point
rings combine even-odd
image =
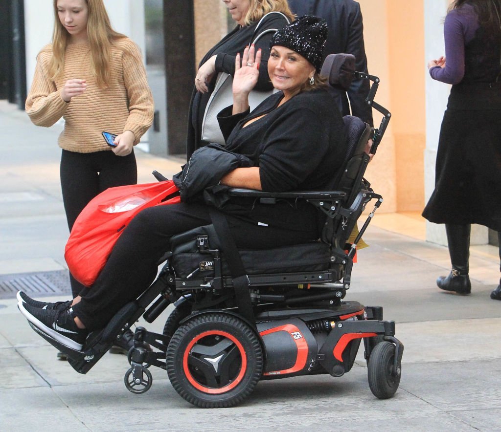
{"type": "MultiPolygon", "coordinates": [[[[258,80],[261,51],[250,47],[236,57],[233,105],[218,116],[226,138],[221,151],[250,163],[222,175],[221,185],[312,190],[325,187],[339,171],[346,154],[343,121],[319,75],[326,37],[326,23],[311,16],[275,34],[268,72],[278,92],[252,113],[247,96],[258,80]]],[[[267,205],[238,198],[221,211],[238,247],[266,249],[320,236],[318,211],[306,201],[267,205]]],[[[125,228],[94,285],[79,297],[45,303],[20,292],[19,309],[40,332],[82,349],[90,331],[105,327],[154,280],[173,235],[210,223],[209,205],[201,199],[145,209],[125,228]]]]}

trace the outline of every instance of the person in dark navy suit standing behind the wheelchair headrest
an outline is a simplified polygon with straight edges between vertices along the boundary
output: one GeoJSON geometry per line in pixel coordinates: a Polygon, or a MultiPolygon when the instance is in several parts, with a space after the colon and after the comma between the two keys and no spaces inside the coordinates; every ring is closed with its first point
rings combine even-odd
{"type": "MultiPolygon", "coordinates": [[[[315,15],[327,21],[329,35],[324,55],[353,54],[356,59],[356,70],[367,72],[365,55],[362,13],[360,5],[354,0],[288,0],[289,6],[297,16],[315,15]]],[[[365,104],[369,94],[367,80],[353,81],[347,92],[342,90],[336,95],[341,113],[360,117],[364,122],[374,126],[372,109],[365,104]],[[348,103],[348,99],[350,102],[348,103]]]]}

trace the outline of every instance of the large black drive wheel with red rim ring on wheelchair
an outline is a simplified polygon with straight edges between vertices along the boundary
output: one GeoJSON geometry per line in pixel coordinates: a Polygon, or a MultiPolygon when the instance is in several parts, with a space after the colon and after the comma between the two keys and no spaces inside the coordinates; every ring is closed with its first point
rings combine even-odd
{"type": "Polygon", "coordinates": [[[188,402],[225,408],[254,390],[263,371],[263,352],[248,324],[231,315],[207,313],[177,329],[166,366],[172,386],[188,402]]]}

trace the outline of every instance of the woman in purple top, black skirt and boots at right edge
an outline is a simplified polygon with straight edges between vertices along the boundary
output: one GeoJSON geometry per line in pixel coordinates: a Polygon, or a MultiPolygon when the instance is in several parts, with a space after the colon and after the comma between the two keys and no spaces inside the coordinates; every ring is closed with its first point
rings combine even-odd
{"type": "MultiPolygon", "coordinates": [[[[431,78],[452,88],[435,190],[423,216],[444,223],[447,232],[452,271],[437,279],[438,287],[469,294],[470,224],[497,231],[501,240],[501,0],[455,0],[444,38],[446,57],[431,60],[428,69],[431,78]]],[[[501,300],[501,279],[490,297],[501,300]]]]}

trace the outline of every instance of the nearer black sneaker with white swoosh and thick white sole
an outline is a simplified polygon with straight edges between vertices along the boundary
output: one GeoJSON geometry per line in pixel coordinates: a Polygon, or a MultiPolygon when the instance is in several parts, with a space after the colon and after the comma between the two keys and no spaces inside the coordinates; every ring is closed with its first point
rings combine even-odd
{"type": "Polygon", "coordinates": [[[47,310],[31,306],[22,301],[18,303],[18,307],[28,321],[40,331],[69,348],[82,349],[89,332],[86,329],[77,327],[74,321],[75,312],[73,312],[73,308],[47,310]]]}

